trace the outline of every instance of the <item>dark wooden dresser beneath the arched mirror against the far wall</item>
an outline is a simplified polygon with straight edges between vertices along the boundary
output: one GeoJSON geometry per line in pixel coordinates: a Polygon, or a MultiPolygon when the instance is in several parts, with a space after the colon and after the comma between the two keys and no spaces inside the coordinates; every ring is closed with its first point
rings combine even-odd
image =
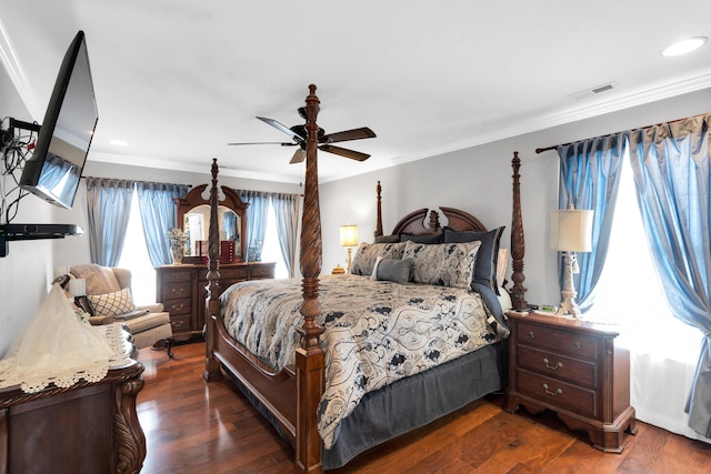
{"type": "MultiPolygon", "coordinates": [[[[246,280],[273,279],[274,262],[220,264],[220,290],[246,280]]],[[[202,333],[208,296],[206,264],[162,265],[156,268],[156,299],[170,313],[176,340],[202,333]]]]}

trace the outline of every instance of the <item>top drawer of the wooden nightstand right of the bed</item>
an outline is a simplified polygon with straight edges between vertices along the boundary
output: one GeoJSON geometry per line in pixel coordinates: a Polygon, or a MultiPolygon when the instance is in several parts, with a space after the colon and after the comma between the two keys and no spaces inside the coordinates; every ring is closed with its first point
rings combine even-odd
{"type": "Polygon", "coordinates": [[[598,360],[595,339],[584,334],[558,331],[522,322],[517,325],[515,341],[519,344],[549,350],[570,357],[598,360]]]}

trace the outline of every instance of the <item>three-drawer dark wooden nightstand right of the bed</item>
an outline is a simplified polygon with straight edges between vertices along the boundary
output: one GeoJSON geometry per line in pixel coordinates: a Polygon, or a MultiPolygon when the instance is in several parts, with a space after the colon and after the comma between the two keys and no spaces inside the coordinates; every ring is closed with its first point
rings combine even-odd
{"type": "Polygon", "coordinates": [[[515,312],[509,323],[507,411],[551,410],[569,428],[585,430],[594,447],[621,453],[623,432],[637,426],[630,353],[615,346],[615,326],[515,312]]]}

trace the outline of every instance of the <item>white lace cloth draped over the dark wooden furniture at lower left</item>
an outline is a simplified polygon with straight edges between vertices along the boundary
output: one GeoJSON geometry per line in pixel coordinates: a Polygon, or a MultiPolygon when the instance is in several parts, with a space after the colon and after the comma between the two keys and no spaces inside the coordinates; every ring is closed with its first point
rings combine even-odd
{"type": "Polygon", "coordinates": [[[66,389],[82,379],[99,382],[110,367],[128,363],[120,325],[92,326],[84,316],[54,283],[0,361],[0,389],[20,385],[34,393],[50,383],[66,389]]]}

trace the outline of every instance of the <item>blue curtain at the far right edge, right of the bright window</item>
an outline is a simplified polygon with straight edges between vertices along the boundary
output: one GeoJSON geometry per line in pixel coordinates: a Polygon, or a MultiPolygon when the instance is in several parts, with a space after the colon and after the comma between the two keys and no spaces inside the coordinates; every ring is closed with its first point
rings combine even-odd
{"type": "Polygon", "coordinates": [[[672,314],[703,337],[687,403],[689,426],[711,437],[709,121],[698,115],[629,132],[630,160],[652,260],[672,314]]]}

